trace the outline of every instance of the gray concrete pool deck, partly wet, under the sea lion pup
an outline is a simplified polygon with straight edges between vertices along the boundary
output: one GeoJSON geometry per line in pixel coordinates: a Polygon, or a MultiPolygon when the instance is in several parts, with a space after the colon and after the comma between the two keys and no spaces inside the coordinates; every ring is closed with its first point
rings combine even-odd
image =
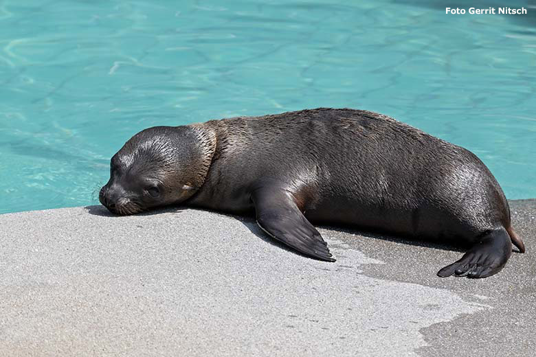
{"type": "Polygon", "coordinates": [[[0,215],[0,356],[533,356],[536,200],[511,208],[527,253],[480,280],[348,229],[326,263],[208,211],[0,215]]]}

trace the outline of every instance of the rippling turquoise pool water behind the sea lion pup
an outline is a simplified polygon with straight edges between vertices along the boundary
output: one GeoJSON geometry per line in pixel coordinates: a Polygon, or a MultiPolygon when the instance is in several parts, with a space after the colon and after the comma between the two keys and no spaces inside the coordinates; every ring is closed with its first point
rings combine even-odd
{"type": "Polygon", "coordinates": [[[536,197],[536,8],[515,4],[3,1],[0,213],[98,203],[148,126],[318,106],[396,117],[536,197]]]}

